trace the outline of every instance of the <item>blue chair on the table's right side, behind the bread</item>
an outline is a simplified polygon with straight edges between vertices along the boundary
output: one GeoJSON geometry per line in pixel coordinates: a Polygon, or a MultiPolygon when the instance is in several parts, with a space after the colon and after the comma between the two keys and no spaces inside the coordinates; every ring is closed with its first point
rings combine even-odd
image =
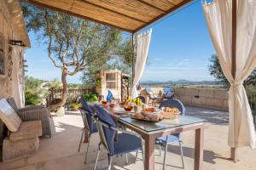
{"type": "MultiPolygon", "coordinates": [[[[161,107],[176,107],[180,112],[181,112],[181,116],[185,115],[185,107],[182,104],[182,102],[180,102],[178,99],[167,99],[161,102],[160,104],[160,108],[161,107]]],[[[165,169],[166,167],[166,152],[168,149],[168,144],[174,144],[174,143],[178,143],[179,144],[179,148],[180,148],[180,153],[181,153],[181,159],[182,159],[182,164],[183,164],[183,169],[184,169],[184,160],[183,160],[183,141],[181,139],[181,135],[180,133],[175,133],[172,135],[168,135],[168,136],[162,136],[160,138],[155,139],[155,143],[158,144],[159,150],[160,150],[160,155],[161,155],[161,146],[165,146],[165,156],[164,156],[164,163],[163,163],[163,169],[165,169]]]]}

